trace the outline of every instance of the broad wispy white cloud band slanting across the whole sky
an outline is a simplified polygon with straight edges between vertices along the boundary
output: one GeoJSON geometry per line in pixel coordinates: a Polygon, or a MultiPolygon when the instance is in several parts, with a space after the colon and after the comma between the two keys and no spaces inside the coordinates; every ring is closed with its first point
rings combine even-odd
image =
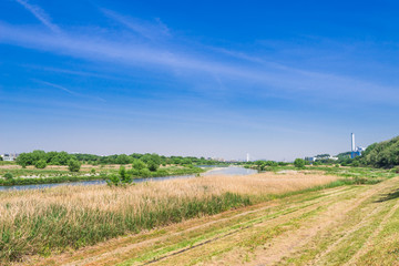
{"type": "MultiPolygon", "coordinates": [[[[149,71],[171,71],[183,73],[181,76],[196,76],[204,80],[204,75],[214,80],[215,74],[223,81],[229,92],[234,90],[257,98],[267,98],[270,92],[283,96],[300,95],[303,100],[317,98],[344,101],[357,99],[362,102],[389,102],[397,104],[399,95],[396,88],[371,83],[330,73],[319,73],[301,69],[289,68],[274,63],[254,65],[232,60],[213,58],[212,53],[193,51],[193,48],[182,52],[173,45],[157,47],[149,43],[131,41],[129,38],[108,38],[106,35],[81,35],[76,32],[64,32],[53,35],[45,32],[27,30],[0,23],[0,42],[11,43],[30,49],[38,49],[57,54],[64,54],[95,62],[111,62],[125,64],[149,71]],[[112,39],[112,40],[111,40],[112,39]],[[127,41],[126,41],[127,40],[127,41]],[[188,52],[187,52],[188,51],[188,52]],[[243,89],[244,88],[244,89],[243,89]]],[[[227,50],[225,54],[229,53],[227,50]]],[[[244,53],[231,52],[248,61],[264,62],[244,53]]],[[[219,82],[217,81],[217,82],[219,82]]]]}

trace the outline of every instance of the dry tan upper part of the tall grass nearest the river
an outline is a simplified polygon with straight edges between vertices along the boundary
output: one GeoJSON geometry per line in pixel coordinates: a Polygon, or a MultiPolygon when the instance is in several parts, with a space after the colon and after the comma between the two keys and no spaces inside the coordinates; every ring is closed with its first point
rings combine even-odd
{"type": "Polygon", "coordinates": [[[63,205],[68,209],[80,207],[113,212],[123,212],[126,206],[134,206],[140,212],[140,206],[144,203],[156,206],[168,197],[201,200],[227,192],[254,196],[282,194],[327,184],[335,180],[336,176],[326,175],[263,173],[248,176],[221,175],[146,182],[126,188],[98,185],[16,191],[0,194],[0,214],[3,214],[0,216],[0,223],[7,223],[12,218],[13,213],[38,212],[51,204],[63,205]],[[8,204],[11,204],[12,212],[8,204]]]}

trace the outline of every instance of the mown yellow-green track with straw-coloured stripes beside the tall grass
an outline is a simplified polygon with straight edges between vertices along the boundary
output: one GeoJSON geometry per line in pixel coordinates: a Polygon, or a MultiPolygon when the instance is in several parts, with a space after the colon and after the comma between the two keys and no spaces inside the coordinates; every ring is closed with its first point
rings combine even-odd
{"type": "Polygon", "coordinates": [[[357,265],[396,217],[399,177],[295,195],[29,265],[357,265]]]}

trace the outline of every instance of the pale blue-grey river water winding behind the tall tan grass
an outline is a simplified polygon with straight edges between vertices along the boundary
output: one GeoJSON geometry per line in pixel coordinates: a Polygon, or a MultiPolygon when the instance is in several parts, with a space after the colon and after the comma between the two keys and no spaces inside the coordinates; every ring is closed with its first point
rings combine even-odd
{"type": "MultiPolygon", "coordinates": [[[[256,170],[249,170],[238,166],[229,166],[229,167],[218,167],[218,166],[206,166],[213,167],[209,171],[202,173],[201,175],[250,175],[256,174],[256,170]]],[[[204,166],[204,168],[206,168],[204,166]]],[[[195,174],[191,175],[171,175],[171,176],[162,176],[162,177],[153,177],[153,178],[136,178],[134,183],[142,183],[147,181],[165,181],[165,180],[176,180],[176,178],[191,178],[194,177],[195,174]]],[[[58,184],[40,184],[40,185],[16,185],[16,186],[0,186],[1,191],[21,191],[21,190],[40,190],[48,188],[61,185],[101,185],[105,184],[105,181],[81,181],[81,182],[69,182],[69,183],[58,183],[58,184]]]]}

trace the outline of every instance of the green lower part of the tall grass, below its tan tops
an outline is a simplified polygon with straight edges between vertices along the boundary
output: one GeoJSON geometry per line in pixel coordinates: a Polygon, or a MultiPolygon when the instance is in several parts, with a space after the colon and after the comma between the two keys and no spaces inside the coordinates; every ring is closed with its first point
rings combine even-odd
{"type": "Polygon", "coordinates": [[[171,197],[162,204],[156,211],[144,205],[139,215],[131,215],[134,209],[122,214],[79,207],[71,213],[57,204],[40,215],[16,215],[12,224],[0,227],[0,262],[18,260],[27,254],[47,255],[49,250],[79,248],[129,232],[137,233],[185,218],[246,206],[250,201],[247,196],[225,193],[221,196],[183,202],[171,197]],[[71,216],[74,219],[71,219],[71,216]]]}

